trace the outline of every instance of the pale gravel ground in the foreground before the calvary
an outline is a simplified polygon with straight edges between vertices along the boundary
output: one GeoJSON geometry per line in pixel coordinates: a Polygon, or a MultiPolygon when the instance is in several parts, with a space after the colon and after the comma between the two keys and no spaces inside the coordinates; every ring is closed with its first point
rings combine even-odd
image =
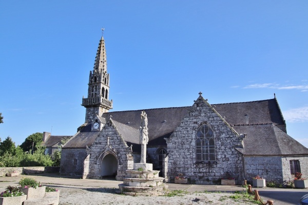
{"type": "Polygon", "coordinates": [[[79,186],[50,186],[59,189],[60,205],[101,205],[101,204],[254,204],[247,201],[230,199],[230,193],[183,193],[181,196],[126,196],[117,194],[118,189],[79,187],[79,186]]]}

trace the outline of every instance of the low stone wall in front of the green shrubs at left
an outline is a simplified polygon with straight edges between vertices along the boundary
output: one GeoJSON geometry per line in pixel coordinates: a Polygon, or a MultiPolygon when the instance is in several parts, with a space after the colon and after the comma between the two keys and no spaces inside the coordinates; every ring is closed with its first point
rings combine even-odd
{"type": "Polygon", "coordinates": [[[0,167],[0,176],[5,176],[6,173],[13,171],[26,175],[59,173],[60,167],[0,167]]]}

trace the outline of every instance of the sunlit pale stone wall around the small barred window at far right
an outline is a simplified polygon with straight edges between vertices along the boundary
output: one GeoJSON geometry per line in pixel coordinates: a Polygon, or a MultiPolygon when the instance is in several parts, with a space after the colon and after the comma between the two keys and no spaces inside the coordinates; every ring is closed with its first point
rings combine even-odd
{"type": "Polygon", "coordinates": [[[294,157],[281,157],[282,162],[282,175],[283,180],[293,181],[294,176],[291,174],[290,170],[290,160],[299,160],[300,163],[300,171],[303,174],[303,178],[308,178],[308,157],[306,156],[294,156],[294,157]]]}

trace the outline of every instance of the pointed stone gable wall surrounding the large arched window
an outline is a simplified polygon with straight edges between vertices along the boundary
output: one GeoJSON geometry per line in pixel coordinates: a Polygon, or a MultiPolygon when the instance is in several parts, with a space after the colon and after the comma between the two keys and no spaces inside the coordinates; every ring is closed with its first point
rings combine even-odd
{"type": "Polygon", "coordinates": [[[226,174],[242,181],[242,154],[235,149],[241,140],[202,96],[166,141],[169,160],[165,177],[168,181],[179,173],[196,184],[219,183],[226,174]],[[196,132],[203,124],[214,131],[215,161],[196,160],[196,132]]]}

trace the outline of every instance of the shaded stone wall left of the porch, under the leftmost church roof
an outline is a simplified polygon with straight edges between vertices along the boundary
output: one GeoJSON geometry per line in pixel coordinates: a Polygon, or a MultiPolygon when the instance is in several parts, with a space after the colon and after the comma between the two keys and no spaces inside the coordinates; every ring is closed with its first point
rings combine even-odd
{"type": "Polygon", "coordinates": [[[62,148],[60,174],[78,176],[82,175],[84,160],[86,157],[86,149],[62,148]]]}

